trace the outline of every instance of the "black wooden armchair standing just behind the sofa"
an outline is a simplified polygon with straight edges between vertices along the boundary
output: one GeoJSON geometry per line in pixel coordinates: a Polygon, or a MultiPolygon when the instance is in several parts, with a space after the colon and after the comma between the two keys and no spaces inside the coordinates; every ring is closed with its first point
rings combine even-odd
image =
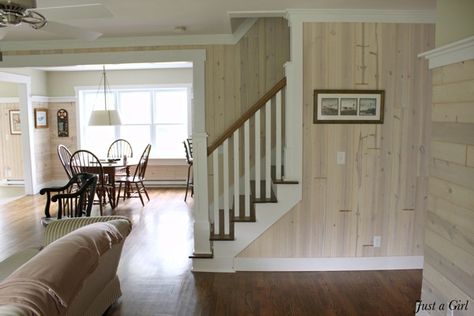
{"type": "Polygon", "coordinates": [[[47,223],[53,219],[50,212],[51,202],[57,203],[55,219],[90,216],[96,185],[96,175],[91,173],[78,173],[62,187],[41,189],[40,194],[46,194],[43,224],[47,225],[47,223]]]}

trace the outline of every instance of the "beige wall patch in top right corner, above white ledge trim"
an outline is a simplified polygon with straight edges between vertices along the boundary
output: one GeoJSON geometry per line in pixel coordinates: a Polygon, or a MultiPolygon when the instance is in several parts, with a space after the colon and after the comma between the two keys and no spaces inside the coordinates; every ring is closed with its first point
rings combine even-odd
{"type": "Polygon", "coordinates": [[[474,36],[474,1],[437,0],[436,46],[474,36]]]}

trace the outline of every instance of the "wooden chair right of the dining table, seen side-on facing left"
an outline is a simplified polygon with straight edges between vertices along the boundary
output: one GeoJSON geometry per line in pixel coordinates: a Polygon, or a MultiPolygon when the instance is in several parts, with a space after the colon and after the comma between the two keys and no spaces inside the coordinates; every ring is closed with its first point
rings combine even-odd
{"type": "Polygon", "coordinates": [[[138,166],[135,169],[133,176],[120,177],[115,180],[119,183],[119,190],[116,202],[117,204],[120,199],[120,192],[122,191],[122,186],[124,186],[124,192],[122,195],[123,200],[125,200],[125,197],[139,197],[140,201],[142,202],[142,205],[145,206],[142,197],[142,193],[145,193],[146,198],[148,199],[148,201],[150,201],[148,192],[146,191],[145,185],[143,184],[143,180],[145,180],[146,167],[148,165],[148,157],[150,156],[150,150],[151,145],[148,144],[145,147],[142,156],[140,157],[140,161],[138,162],[138,166]]]}

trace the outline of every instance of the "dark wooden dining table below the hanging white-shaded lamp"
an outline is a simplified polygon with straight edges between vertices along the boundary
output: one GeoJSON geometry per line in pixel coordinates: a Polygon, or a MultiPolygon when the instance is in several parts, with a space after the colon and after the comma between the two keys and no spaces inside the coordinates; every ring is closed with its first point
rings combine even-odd
{"type": "MultiPolygon", "coordinates": [[[[110,185],[110,195],[112,197],[112,201],[110,201],[110,206],[112,208],[116,207],[117,197],[116,190],[115,190],[115,176],[117,171],[125,169],[127,177],[130,176],[130,168],[135,167],[138,165],[138,159],[128,158],[124,162],[123,159],[100,159],[100,164],[102,165],[102,170],[104,171],[104,175],[108,179],[108,184],[110,185]]],[[[99,166],[88,165],[82,167],[85,172],[90,172],[94,174],[98,174],[100,172],[99,166]]]]}

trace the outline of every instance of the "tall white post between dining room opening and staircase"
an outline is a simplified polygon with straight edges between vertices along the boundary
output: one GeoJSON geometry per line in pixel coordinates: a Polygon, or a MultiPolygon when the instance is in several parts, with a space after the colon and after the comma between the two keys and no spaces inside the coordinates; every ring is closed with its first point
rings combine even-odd
{"type": "Polygon", "coordinates": [[[207,133],[205,107],[205,55],[193,62],[193,183],[194,251],[193,256],[212,254],[207,186],[207,133]]]}

